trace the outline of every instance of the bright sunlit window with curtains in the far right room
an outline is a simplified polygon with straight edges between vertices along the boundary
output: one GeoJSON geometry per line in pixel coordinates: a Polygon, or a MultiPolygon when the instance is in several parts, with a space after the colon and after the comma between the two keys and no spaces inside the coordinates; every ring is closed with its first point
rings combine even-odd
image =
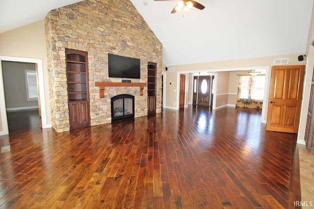
{"type": "Polygon", "coordinates": [[[259,99],[264,97],[265,75],[240,76],[240,98],[259,99]]]}

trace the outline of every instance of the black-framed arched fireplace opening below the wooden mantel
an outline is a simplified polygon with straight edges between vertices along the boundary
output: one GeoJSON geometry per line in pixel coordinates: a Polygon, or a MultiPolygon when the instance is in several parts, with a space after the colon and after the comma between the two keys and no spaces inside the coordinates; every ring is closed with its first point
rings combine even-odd
{"type": "Polygon", "coordinates": [[[134,117],[134,96],[120,94],[111,97],[111,121],[134,117]]]}

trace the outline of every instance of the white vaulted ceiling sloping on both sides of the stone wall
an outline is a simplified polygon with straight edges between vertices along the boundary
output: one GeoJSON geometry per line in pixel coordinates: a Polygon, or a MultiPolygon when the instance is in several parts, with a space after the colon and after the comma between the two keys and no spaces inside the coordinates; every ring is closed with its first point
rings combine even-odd
{"type": "MultiPolygon", "coordinates": [[[[0,0],[0,33],[78,1],[0,0]]],[[[306,51],[313,0],[196,0],[206,8],[184,14],[170,13],[178,0],[146,1],[131,0],[163,45],[167,66],[306,51]]]]}

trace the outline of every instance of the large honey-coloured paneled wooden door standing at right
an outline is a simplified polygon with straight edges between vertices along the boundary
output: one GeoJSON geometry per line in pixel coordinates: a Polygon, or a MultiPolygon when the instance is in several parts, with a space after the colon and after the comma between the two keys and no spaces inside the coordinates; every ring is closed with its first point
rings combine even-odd
{"type": "Polygon", "coordinates": [[[304,65],[274,66],[272,68],[267,131],[298,132],[304,69],[304,65]]]}

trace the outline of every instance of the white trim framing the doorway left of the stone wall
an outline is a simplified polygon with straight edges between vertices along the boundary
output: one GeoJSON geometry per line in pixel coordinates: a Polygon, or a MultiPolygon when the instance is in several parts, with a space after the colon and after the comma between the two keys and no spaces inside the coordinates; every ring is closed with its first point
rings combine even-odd
{"type": "Polygon", "coordinates": [[[1,125],[2,125],[2,127],[0,127],[0,136],[9,134],[5,97],[4,97],[4,84],[3,84],[2,64],[1,64],[2,61],[25,62],[25,63],[37,64],[42,127],[43,128],[51,127],[51,124],[49,125],[47,124],[47,116],[46,116],[43,61],[41,59],[33,59],[33,58],[0,56],[0,116],[1,116],[0,119],[1,119],[1,125]]]}

